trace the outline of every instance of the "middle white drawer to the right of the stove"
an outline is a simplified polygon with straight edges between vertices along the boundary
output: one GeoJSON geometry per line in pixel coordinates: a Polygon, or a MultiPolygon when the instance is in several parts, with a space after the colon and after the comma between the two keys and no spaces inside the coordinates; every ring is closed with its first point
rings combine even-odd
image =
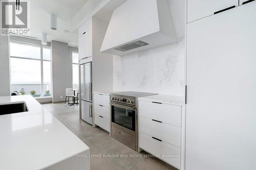
{"type": "Polygon", "coordinates": [[[180,148],[181,128],[166,123],[156,122],[146,117],[139,117],[139,130],[180,148]]]}

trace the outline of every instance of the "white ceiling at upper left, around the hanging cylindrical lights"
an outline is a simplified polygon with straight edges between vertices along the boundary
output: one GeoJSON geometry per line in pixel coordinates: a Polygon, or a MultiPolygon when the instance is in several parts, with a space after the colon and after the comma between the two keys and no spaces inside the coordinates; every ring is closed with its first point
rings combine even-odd
{"type": "Polygon", "coordinates": [[[72,33],[71,19],[89,0],[33,0],[30,1],[30,35],[41,40],[41,33],[47,34],[47,41],[67,42],[78,46],[77,33],[72,33]],[[57,14],[57,30],[50,29],[50,14],[57,14]]]}

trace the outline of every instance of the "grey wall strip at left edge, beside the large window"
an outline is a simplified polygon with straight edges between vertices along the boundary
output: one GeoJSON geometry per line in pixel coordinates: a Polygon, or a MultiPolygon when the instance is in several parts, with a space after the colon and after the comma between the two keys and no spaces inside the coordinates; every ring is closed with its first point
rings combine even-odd
{"type": "Polygon", "coordinates": [[[10,95],[9,36],[0,36],[0,96],[10,95]]]}

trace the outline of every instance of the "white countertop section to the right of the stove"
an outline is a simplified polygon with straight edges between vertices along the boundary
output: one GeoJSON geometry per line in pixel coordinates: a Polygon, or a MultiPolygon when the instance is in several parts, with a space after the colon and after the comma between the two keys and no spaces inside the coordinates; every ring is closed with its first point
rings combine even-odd
{"type": "Polygon", "coordinates": [[[159,102],[164,104],[170,105],[184,105],[184,96],[177,96],[177,95],[164,95],[164,94],[156,94],[156,95],[149,95],[138,98],[138,100],[148,101],[148,102],[159,102]]]}

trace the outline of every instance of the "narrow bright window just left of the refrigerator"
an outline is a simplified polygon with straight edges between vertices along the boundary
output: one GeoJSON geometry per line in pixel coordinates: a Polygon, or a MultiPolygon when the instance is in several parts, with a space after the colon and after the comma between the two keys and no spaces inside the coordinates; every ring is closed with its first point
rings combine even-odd
{"type": "Polygon", "coordinates": [[[73,89],[79,88],[79,64],[78,53],[72,52],[72,76],[73,76],[73,89]]]}

